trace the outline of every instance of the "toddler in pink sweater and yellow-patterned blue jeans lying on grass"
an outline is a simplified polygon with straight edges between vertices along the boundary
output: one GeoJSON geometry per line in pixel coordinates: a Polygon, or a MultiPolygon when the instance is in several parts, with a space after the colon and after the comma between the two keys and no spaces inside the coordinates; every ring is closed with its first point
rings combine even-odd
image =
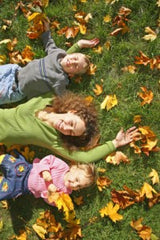
{"type": "Polygon", "coordinates": [[[0,201],[31,193],[55,205],[49,201],[52,194],[71,194],[72,190],[88,187],[96,181],[96,171],[92,164],[69,167],[54,155],[48,155],[42,160],[35,159],[30,164],[21,154],[16,154],[16,158],[9,154],[0,156],[0,169],[4,174],[0,177],[0,201]]]}

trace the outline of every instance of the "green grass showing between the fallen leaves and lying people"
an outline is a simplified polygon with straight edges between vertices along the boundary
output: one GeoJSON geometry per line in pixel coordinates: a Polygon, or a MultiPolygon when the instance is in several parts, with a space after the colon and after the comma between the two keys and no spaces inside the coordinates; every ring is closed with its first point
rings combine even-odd
{"type": "MultiPolygon", "coordinates": [[[[22,1],[28,3],[29,1],[22,1]]],[[[152,58],[160,53],[160,38],[158,18],[159,10],[156,0],[119,0],[113,5],[105,4],[104,0],[93,1],[88,0],[81,3],[76,0],[59,0],[51,1],[45,9],[45,13],[50,19],[56,19],[60,22],[60,27],[66,25],[72,26],[74,22],[74,12],[72,5],[77,5],[78,11],[84,11],[92,14],[92,19],[88,23],[88,31],[85,36],[80,33],[75,39],[66,40],[64,36],[58,36],[56,31],[52,32],[57,46],[67,49],[65,42],[76,42],[81,38],[98,37],[100,45],[106,41],[111,42],[111,49],[103,50],[102,54],[93,52],[92,49],[84,49],[83,53],[91,56],[91,61],[97,65],[96,74],[93,76],[83,76],[81,84],[72,83],[70,89],[75,92],[83,92],[92,95],[95,83],[101,83],[103,79],[103,94],[96,97],[97,105],[100,105],[106,94],[116,94],[118,105],[109,112],[100,111],[100,131],[101,142],[113,139],[120,129],[133,125],[133,117],[137,114],[142,115],[142,125],[150,126],[155,132],[157,138],[160,139],[160,74],[159,71],[151,70],[149,66],[137,65],[135,74],[124,73],[121,68],[127,65],[133,65],[135,56],[139,56],[139,51],[145,53],[152,58]],[[132,10],[128,16],[128,26],[130,32],[124,35],[111,37],[110,32],[116,27],[112,27],[111,23],[104,23],[103,17],[110,15],[112,19],[118,14],[119,8],[125,6],[132,10]],[[142,37],[145,35],[145,27],[150,26],[157,32],[157,39],[153,42],[145,41],[142,37]],[[150,105],[141,107],[141,100],[137,97],[137,92],[141,86],[146,86],[154,93],[154,99],[150,105]]],[[[28,22],[24,18],[22,12],[18,10],[15,16],[14,8],[18,3],[17,0],[0,0],[0,41],[6,38],[13,39],[17,37],[18,44],[16,49],[22,50],[26,45],[30,45],[35,52],[35,57],[43,57],[44,51],[40,40],[29,40],[26,36],[28,22]],[[11,27],[3,31],[2,19],[12,20],[11,27]]],[[[7,54],[5,45],[0,45],[0,55],[7,54]]],[[[9,60],[8,60],[9,61],[9,60]]],[[[158,142],[160,146],[160,142],[158,142]]],[[[45,149],[32,147],[37,157],[43,157],[48,153],[45,149]]],[[[84,196],[84,204],[75,205],[76,215],[81,219],[82,234],[85,240],[138,240],[137,233],[130,227],[133,219],[143,217],[143,224],[150,226],[152,232],[160,239],[160,205],[156,204],[152,208],[148,208],[147,202],[137,203],[125,210],[120,210],[123,220],[113,223],[109,218],[101,218],[99,210],[106,205],[111,199],[111,190],[122,190],[123,185],[127,185],[133,190],[140,189],[144,182],[151,183],[148,177],[151,169],[157,170],[160,175],[160,154],[151,153],[149,157],[144,154],[136,155],[133,149],[129,147],[123,148],[123,152],[130,159],[130,164],[120,164],[114,166],[106,164],[103,160],[96,163],[97,167],[107,169],[106,175],[112,179],[112,184],[103,192],[99,192],[97,187],[76,192],[72,196],[84,196]],[[89,224],[89,219],[97,216],[97,221],[89,224]]],[[[160,185],[154,188],[159,192],[160,185]]],[[[3,221],[3,228],[0,230],[0,239],[7,240],[14,234],[18,234],[20,229],[29,227],[35,223],[39,213],[51,209],[56,218],[61,221],[62,215],[56,208],[51,208],[41,199],[34,199],[32,196],[23,196],[16,200],[9,201],[9,209],[3,209],[0,206],[0,219],[3,221]]],[[[29,240],[37,240],[38,236],[32,231],[28,237],[29,240]]]]}

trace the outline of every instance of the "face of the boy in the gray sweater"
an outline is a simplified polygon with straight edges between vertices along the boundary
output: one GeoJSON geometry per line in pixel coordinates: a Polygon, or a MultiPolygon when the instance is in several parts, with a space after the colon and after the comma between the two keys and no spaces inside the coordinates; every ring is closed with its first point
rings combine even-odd
{"type": "Polygon", "coordinates": [[[61,61],[63,70],[68,74],[80,74],[85,72],[87,63],[82,53],[67,54],[61,61]]]}

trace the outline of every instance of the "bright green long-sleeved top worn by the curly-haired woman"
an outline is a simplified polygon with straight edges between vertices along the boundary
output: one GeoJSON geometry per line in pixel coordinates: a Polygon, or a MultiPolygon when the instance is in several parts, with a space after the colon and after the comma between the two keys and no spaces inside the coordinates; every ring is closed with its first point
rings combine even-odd
{"type": "Polygon", "coordinates": [[[52,98],[51,93],[48,93],[16,108],[0,109],[0,142],[8,146],[33,144],[45,147],[65,159],[82,163],[95,162],[115,150],[111,141],[89,151],[70,152],[62,147],[58,131],[35,116],[52,98]]]}

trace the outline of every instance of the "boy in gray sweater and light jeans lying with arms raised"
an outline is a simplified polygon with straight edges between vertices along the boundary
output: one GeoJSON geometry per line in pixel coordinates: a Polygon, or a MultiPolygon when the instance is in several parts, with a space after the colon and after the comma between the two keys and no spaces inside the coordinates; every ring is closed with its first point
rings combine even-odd
{"type": "Polygon", "coordinates": [[[0,104],[30,99],[53,90],[57,95],[63,94],[69,84],[69,76],[83,74],[89,67],[84,54],[73,52],[99,43],[96,38],[79,40],[67,54],[55,45],[47,21],[41,37],[46,57],[35,59],[23,68],[17,64],[0,66],[0,104]]]}

